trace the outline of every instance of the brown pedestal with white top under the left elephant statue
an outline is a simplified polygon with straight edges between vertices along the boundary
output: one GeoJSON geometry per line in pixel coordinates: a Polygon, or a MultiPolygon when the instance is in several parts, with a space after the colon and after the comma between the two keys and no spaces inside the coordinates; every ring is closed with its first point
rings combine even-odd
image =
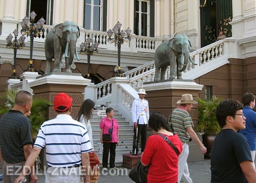
{"type": "Polygon", "coordinates": [[[49,107],[48,119],[56,117],[53,108],[55,95],[64,92],[73,98],[72,113],[73,119],[76,119],[79,108],[84,101],[84,88],[89,85],[91,80],[84,79],[81,74],[76,73],[49,73],[36,78],[29,83],[33,89],[34,97],[42,97],[49,100],[52,105],[49,107]]]}

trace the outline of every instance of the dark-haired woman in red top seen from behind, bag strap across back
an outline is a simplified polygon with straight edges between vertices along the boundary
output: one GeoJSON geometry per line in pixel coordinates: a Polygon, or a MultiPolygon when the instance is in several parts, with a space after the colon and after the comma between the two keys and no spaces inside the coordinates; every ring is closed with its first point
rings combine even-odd
{"type": "Polygon", "coordinates": [[[167,136],[169,141],[178,149],[179,154],[182,151],[182,142],[177,134],[170,132],[168,120],[159,112],[152,113],[148,120],[148,126],[152,128],[154,135],[148,137],[141,157],[142,165],[150,165],[147,182],[176,183],[178,181],[179,157],[174,149],[157,133],[167,136]]]}

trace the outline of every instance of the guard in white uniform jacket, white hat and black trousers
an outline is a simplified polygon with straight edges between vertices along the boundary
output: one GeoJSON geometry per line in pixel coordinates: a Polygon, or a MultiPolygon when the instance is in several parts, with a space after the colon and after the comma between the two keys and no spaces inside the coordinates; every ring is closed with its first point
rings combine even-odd
{"type": "Polygon", "coordinates": [[[147,122],[148,122],[148,118],[150,118],[148,102],[146,99],[144,99],[145,95],[147,95],[145,89],[139,89],[137,94],[139,95],[139,98],[135,99],[132,105],[132,120],[134,124],[134,144],[136,141],[136,134],[137,134],[136,129],[138,128],[136,153],[133,152],[134,155],[138,154],[138,149],[139,149],[138,143],[139,143],[140,135],[141,135],[141,153],[145,149],[147,122]]]}

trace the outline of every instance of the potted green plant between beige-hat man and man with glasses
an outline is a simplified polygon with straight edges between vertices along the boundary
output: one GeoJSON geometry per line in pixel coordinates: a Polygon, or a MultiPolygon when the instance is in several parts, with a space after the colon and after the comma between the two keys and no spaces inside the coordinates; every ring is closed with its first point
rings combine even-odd
{"type": "Polygon", "coordinates": [[[210,158],[211,146],[221,128],[216,120],[216,108],[222,99],[213,95],[210,99],[198,98],[198,123],[196,130],[203,133],[203,144],[207,148],[205,158],[210,158]]]}

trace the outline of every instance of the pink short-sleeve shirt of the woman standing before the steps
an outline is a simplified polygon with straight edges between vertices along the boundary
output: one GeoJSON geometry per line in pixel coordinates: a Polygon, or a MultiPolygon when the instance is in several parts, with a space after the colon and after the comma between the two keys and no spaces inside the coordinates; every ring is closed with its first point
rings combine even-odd
{"type": "Polygon", "coordinates": [[[99,128],[103,129],[103,134],[109,134],[109,129],[112,127],[113,122],[113,131],[112,131],[112,140],[110,142],[117,142],[117,130],[119,125],[115,118],[111,120],[108,117],[102,118],[99,124],[99,128]]]}

